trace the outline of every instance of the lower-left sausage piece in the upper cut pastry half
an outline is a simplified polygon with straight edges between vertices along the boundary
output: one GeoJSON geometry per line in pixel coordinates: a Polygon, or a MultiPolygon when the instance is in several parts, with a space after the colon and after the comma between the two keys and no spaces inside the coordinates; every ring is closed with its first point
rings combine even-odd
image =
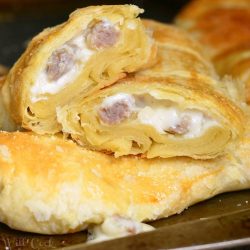
{"type": "Polygon", "coordinates": [[[49,81],[56,81],[74,66],[74,54],[66,48],[56,50],[50,56],[46,72],[49,81]]]}

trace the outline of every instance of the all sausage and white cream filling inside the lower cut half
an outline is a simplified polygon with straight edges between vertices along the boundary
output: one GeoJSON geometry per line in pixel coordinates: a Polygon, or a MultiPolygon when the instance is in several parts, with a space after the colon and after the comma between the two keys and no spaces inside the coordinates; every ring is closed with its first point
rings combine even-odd
{"type": "Polygon", "coordinates": [[[218,122],[202,111],[180,109],[174,102],[155,99],[151,95],[119,93],[104,99],[98,116],[106,125],[116,125],[126,119],[153,127],[160,134],[197,137],[218,122]]]}

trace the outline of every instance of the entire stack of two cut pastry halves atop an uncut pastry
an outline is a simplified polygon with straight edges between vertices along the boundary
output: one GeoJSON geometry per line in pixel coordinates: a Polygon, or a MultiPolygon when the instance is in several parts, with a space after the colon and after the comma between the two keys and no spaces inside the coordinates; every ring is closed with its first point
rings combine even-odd
{"type": "Polygon", "coordinates": [[[143,25],[140,12],[78,10],[11,69],[3,105],[33,132],[0,133],[0,221],[45,234],[101,223],[94,232],[137,233],[148,230],[139,222],[250,187],[237,91],[185,32],[143,25]]]}

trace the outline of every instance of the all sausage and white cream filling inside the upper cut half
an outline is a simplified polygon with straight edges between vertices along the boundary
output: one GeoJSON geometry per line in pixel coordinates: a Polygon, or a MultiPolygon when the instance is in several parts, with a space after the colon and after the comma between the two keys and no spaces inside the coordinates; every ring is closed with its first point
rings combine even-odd
{"type": "Polygon", "coordinates": [[[44,94],[56,94],[72,82],[82,71],[96,50],[113,47],[120,30],[109,21],[99,21],[80,35],[67,41],[48,58],[31,88],[31,101],[47,99],[44,94]]]}

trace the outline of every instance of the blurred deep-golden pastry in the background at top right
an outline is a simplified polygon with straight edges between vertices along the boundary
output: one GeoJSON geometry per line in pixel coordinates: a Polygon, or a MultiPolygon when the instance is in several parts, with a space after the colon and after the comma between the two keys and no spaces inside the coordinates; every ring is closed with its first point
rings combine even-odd
{"type": "Polygon", "coordinates": [[[250,103],[250,1],[193,0],[176,24],[204,45],[220,75],[244,82],[250,103]]]}

